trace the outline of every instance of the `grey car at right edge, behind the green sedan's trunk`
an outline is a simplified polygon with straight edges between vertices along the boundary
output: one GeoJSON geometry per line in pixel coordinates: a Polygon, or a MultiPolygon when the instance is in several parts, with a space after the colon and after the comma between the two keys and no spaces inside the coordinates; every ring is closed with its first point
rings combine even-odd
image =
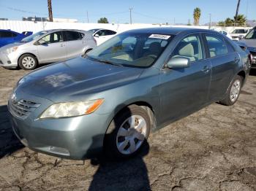
{"type": "Polygon", "coordinates": [[[256,69],[256,27],[252,28],[239,42],[246,44],[247,49],[252,54],[252,69],[256,69]]]}

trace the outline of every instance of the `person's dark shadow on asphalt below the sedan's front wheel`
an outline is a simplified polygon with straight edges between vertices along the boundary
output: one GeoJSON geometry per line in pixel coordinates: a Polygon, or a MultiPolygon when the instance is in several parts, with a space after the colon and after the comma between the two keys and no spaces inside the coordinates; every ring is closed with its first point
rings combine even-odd
{"type": "MultiPolygon", "coordinates": [[[[127,110],[130,112],[129,109],[127,110]]],[[[116,117],[114,126],[118,127],[115,119],[116,117]]],[[[115,130],[108,130],[106,136],[112,137],[114,132],[115,130]]],[[[91,147],[99,140],[98,137],[92,139],[91,147]]],[[[148,151],[148,141],[144,139],[143,147],[140,148],[137,155],[132,155],[132,157],[116,159],[111,156],[112,153],[101,152],[102,155],[91,159],[91,165],[97,165],[98,168],[89,190],[151,190],[148,169],[143,161],[143,157],[148,155],[148,151]]]]}

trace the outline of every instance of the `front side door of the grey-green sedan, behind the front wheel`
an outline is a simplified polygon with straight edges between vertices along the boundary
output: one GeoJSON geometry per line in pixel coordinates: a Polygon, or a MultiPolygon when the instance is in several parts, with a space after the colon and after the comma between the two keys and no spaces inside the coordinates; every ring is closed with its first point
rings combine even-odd
{"type": "Polygon", "coordinates": [[[170,58],[189,58],[190,66],[160,71],[163,122],[196,111],[208,101],[211,63],[206,59],[200,34],[186,36],[170,58]]]}

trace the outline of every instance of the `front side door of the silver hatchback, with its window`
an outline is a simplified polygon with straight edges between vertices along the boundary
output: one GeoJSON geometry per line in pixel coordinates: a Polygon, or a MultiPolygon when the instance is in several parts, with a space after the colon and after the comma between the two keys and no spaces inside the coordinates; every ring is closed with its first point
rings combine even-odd
{"type": "Polygon", "coordinates": [[[66,43],[64,42],[62,31],[50,33],[40,40],[45,42],[37,45],[40,63],[51,63],[67,59],[66,43]]]}

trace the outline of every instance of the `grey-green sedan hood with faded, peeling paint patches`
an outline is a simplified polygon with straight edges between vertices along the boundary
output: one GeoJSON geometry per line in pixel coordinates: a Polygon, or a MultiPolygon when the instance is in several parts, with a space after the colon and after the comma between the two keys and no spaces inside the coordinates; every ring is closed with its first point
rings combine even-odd
{"type": "Polygon", "coordinates": [[[142,71],[80,57],[37,69],[20,79],[18,88],[24,93],[58,101],[124,85],[137,79],[142,71]]]}

